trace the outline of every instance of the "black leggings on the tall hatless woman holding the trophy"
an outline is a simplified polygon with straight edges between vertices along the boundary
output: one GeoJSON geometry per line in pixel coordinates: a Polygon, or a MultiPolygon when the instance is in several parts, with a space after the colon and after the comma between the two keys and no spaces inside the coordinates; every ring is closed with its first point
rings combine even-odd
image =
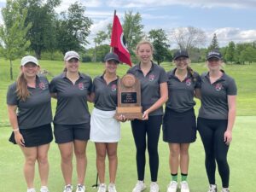
{"type": "Polygon", "coordinates": [[[138,180],[144,180],[146,164],[146,135],[148,136],[148,156],[151,173],[151,181],[157,181],[159,156],[158,141],[160,137],[160,126],[162,124],[162,115],[148,116],[148,120],[132,120],[131,128],[137,148],[137,177],[138,180]]]}

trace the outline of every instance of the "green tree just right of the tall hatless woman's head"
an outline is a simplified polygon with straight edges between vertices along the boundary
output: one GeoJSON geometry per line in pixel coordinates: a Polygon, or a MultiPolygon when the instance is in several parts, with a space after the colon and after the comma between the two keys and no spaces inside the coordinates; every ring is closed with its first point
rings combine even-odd
{"type": "Polygon", "coordinates": [[[168,54],[168,48],[170,47],[166,32],[163,29],[153,29],[148,32],[148,34],[148,38],[151,40],[154,47],[154,60],[160,65],[160,63],[165,60],[165,56],[168,54]]]}

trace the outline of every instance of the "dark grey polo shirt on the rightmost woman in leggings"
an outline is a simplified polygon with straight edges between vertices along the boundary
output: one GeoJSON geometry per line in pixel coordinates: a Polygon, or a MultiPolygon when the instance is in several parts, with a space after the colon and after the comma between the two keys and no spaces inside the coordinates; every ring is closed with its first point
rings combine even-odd
{"type": "Polygon", "coordinates": [[[223,76],[211,84],[209,73],[201,75],[201,108],[199,117],[228,119],[228,96],[236,96],[236,82],[223,71],[223,76]]]}

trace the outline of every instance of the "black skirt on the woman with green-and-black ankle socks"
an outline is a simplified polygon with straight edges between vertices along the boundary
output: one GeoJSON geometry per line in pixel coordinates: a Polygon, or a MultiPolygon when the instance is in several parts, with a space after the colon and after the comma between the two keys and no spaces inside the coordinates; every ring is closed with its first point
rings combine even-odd
{"type": "Polygon", "coordinates": [[[177,113],[166,108],[163,119],[163,140],[167,143],[193,143],[196,139],[194,108],[177,113]]]}

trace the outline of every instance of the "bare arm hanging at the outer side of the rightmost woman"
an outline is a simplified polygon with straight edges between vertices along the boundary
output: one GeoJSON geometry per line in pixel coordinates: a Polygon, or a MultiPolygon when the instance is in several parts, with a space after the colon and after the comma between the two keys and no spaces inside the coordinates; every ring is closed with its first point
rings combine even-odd
{"type": "Polygon", "coordinates": [[[236,96],[228,96],[229,114],[228,114],[228,126],[224,132],[224,142],[230,144],[232,141],[232,130],[236,119],[236,96]]]}

